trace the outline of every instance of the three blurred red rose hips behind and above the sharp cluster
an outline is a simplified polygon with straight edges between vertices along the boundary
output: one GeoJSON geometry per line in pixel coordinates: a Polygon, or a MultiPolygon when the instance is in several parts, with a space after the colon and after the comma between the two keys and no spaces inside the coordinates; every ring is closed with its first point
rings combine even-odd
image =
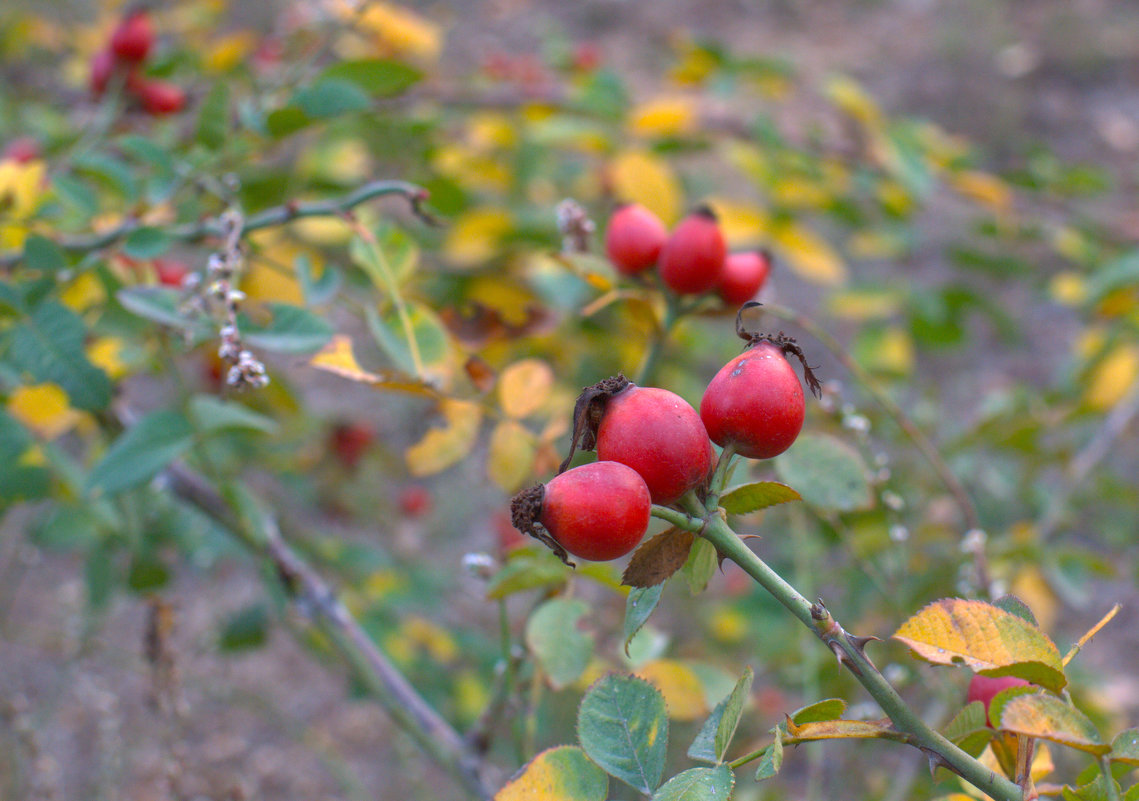
{"type": "Polygon", "coordinates": [[[728,253],[720,223],[707,206],[691,212],[672,234],[645,206],[620,206],[609,219],[605,252],[623,275],[656,265],[661,280],[678,295],[714,291],[729,306],[755,297],[771,270],[765,251],[728,253]]]}

